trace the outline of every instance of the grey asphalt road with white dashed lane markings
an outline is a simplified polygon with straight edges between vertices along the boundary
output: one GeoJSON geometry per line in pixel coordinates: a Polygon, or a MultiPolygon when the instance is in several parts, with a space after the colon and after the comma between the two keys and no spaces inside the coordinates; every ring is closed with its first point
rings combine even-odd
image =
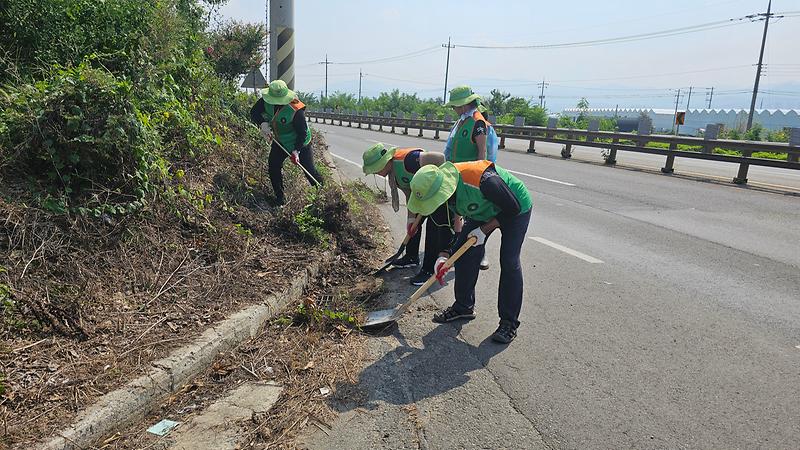
{"type": "MultiPolygon", "coordinates": [[[[375,141],[444,145],[313,125],[352,178],[375,141]]],[[[339,405],[310,448],[800,448],[797,176],[766,170],[760,181],[783,187],[741,188],[580,159],[498,159],[534,201],[517,340],[487,341],[494,237],[478,318],[434,326],[452,286],[424,298],[375,338],[359,383],[339,387],[361,389],[369,407],[339,405]]],[[[404,215],[384,212],[399,239],[404,215]]],[[[389,301],[412,291],[412,274],[390,275],[389,301]]]]}

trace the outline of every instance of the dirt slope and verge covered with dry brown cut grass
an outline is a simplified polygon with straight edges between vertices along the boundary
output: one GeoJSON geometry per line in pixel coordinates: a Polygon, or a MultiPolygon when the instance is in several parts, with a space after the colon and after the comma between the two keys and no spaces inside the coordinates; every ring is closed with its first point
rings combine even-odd
{"type": "MultiPolygon", "coordinates": [[[[324,147],[315,140],[318,161],[324,147]]],[[[206,385],[213,386],[214,377],[252,377],[250,372],[272,379],[265,361],[287,386],[292,380],[303,385],[300,380],[316,374],[312,367],[354,370],[348,358],[323,356],[357,353],[343,317],[355,316],[358,305],[336,286],[352,286],[354,265],[364,264],[375,249],[374,236],[354,231],[359,228],[353,220],[363,220],[367,211],[349,210],[343,200],[360,190],[318,195],[318,207],[308,212],[325,218],[321,226],[331,238],[321,243],[297,230],[295,218],[307,211],[310,194],[295,168],[288,170],[290,201],[281,209],[269,201],[262,162],[231,154],[193,170],[187,168],[181,183],[196,195],[131,219],[57,218],[9,201],[13,192],[3,192],[0,291],[8,295],[0,296],[0,448],[29,448],[52,436],[99,396],[144,374],[149,362],[288,285],[326,246],[338,256],[327,278],[309,292],[304,312],[287,313],[253,341],[283,347],[263,355],[268,350],[256,344],[242,347],[239,356],[228,355],[239,364],[231,368],[221,358],[206,385]],[[232,176],[230,168],[240,165],[241,174],[232,176]],[[345,315],[325,316],[333,307],[345,315]],[[242,355],[260,355],[261,364],[242,355]],[[292,372],[300,360],[307,360],[300,369],[314,363],[292,372]]],[[[358,195],[363,201],[370,196],[358,195]]],[[[280,429],[289,435],[293,426],[273,426],[269,434],[265,429],[254,434],[268,439],[280,429]]]]}

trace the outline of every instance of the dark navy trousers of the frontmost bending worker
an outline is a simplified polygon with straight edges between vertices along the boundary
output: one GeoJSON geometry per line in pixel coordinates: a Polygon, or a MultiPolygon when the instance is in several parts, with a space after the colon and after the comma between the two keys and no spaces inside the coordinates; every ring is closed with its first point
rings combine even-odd
{"type": "MultiPolygon", "coordinates": [[[[500,319],[519,326],[522,308],[522,264],[519,254],[528,232],[531,211],[500,222],[500,286],[497,290],[497,312],[500,319]]],[[[483,222],[467,219],[464,232],[469,233],[483,222]]],[[[456,261],[455,308],[457,311],[472,311],[475,307],[475,284],[478,282],[480,262],[486,246],[472,247],[456,261]]]]}

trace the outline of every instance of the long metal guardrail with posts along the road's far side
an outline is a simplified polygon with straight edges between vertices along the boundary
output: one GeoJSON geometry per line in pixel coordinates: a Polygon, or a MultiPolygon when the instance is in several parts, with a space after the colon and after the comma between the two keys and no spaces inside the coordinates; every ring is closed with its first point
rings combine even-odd
{"type": "MultiPolygon", "coordinates": [[[[333,112],[333,111],[318,111],[307,110],[306,117],[309,121],[319,123],[338,122],[341,126],[347,123],[348,127],[357,124],[358,128],[366,125],[368,128],[377,126],[379,131],[383,131],[384,127],[388,127],[389,132],[394,133],[396,129],[402,129],[402,134],[408,134],[409,129],[418,130],[418,136],[422,136],[423,130],[433,131],[434,139],[439,139],[439,133],[449,132],[453,126],[453,119],[445,117],[444,120],[434,119],[432,116],[420,118],[416,114],[411,114],[405,117],[402,113],[392,116],[391,113],[383,113],[382,115],[370,115],[366,112],[333,112]]],[[[490,122],[493,122],[492,117],[488,117],[490,122]]],[[[534,144],[536,141],[552,142],[563,144],[561,156],[563,158],[572,157],[572,147],[579,145],[583,147],[594,147],[600,149],[608,149],[609,153],[606,156],[606,164],[613,165],[617,162],[617,152],[637,152],[637,153],[650,153],[654,155],[666,156],[664,167],[661,168],[663,173],[674,172],[673,165],[675,158],[691,158],[691,159],[704,159],[711,161],[722,161],[727,163],[739,164],[739,172],[733,179],[736,184],[747,183],[747,172],[751,165],[753,166],[766,166],[777,167],[781,169],[800,170],[800,129],[792,128],[792,133],[789,143],[782,142],[755,142],[755,141],[733,141],[728,139],[716,139],[719,129],[714,124],[709,124],[706,129],[706,136],[703,138],[686,137],[686,136],[672,136],[650,134],[649,126],[640,126],[637,133],[618,133],[610,131],[599,131],[596,122],[589,124],[588,130],[577,130],[569,128],[557,128],[556,120],[550,119],[548,126],[530,126],[523,125],[522,118],[517,118],[514,125],[495,124],[495,130],[500,137],[500,148],[505,147],[506,139],[521,139],[529,141],[528,153],[535,153],[536,149],[534,144]],[[667,148],[648,147],[647,144],[663,143],[667,148]],[[700,151],[681,150],[679,145],[687,145],[698,147],[700,151]],[[727,150],[736,150],[742,153],[742,156],[732,156],[713,153],[716,148],[724,148],[727,150]],[[787,159],[766,159],[766,158],[753,158],[753,153],[756,152],[772,152],[772,153],[786,153],[787,159]]]]}

